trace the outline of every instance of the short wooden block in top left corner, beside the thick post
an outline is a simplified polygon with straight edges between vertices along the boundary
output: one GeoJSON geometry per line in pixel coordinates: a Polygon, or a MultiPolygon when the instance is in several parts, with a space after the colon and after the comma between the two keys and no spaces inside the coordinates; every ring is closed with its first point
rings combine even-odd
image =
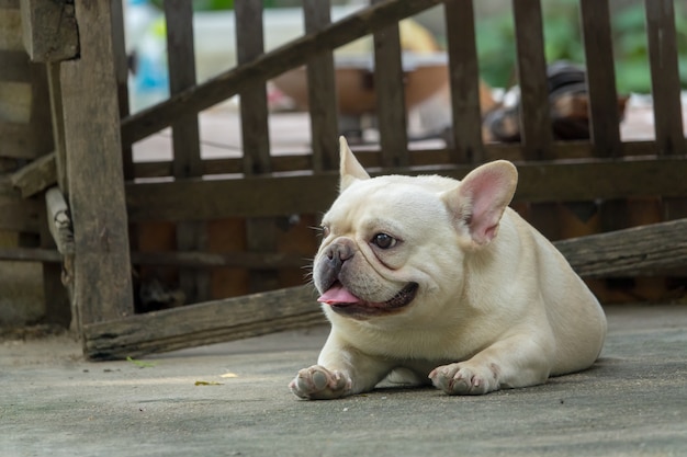
{"type": "Polygon", "coordinates": [[[22,41],[32,61],[71,59],[79,52],[74,3],[21,0],[22,41]]]}

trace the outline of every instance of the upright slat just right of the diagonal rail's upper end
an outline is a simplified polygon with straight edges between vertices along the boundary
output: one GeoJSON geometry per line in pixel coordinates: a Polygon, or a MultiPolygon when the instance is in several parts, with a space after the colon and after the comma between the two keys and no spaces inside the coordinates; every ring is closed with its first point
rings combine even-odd
{"type": "Polygon", "coordinates": [[[451,83],[451,162],[484,161],[480,69],[472,0],[444,3],[449,81],[451,83]]]}

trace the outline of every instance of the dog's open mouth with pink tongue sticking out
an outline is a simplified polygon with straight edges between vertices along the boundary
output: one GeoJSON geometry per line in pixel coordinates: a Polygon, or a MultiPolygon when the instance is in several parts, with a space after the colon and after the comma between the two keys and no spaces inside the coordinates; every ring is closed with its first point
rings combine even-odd
{"type": "Polygon", "coordinates": [[[394,311],[409,305],[417,294],[418,284],[408,283],[386,301],[367,301],[350,293],[340,282],[335,282],[317,301],[327,304],[341,315],[376,316],[394,311]]]}

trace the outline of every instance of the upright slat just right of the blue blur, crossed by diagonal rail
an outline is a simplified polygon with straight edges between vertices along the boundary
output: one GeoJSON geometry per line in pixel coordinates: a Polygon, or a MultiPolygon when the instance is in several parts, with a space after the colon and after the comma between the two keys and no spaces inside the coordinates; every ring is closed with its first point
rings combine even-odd
{"type": "MultiPolygon", "coordinates": [[[[191,0],[165,1],[165,19],[167,21],[169,91],[171,94],[176,94],[195,84],[191,0]]],[[[181,116],[172,123],[172,148],[174,179],[203,174],[196,113],[181,116]]],[[[177,249],[181,251],[206,250],[207,228],[205,224],[178,224],[177,249]]],[[[179,271],[179,286],[189,302],[206,301],[210,299],[210,272],[182,269],[179,271]]]]}

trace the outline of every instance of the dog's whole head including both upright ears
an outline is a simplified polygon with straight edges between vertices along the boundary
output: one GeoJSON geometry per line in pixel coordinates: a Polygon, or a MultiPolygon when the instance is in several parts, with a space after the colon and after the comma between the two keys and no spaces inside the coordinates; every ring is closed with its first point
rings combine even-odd
{"type": "Polygon", "coordinates": [[[492,191],[504,187],[499,173],[481,175],[465,185],[440,176],[370,179],[342,140],[341,192],[323,218],[313,271],[325,309],[370,319],[459,294],[464,247],[491,241],[515,188],[502,195],[492,191]]]}

